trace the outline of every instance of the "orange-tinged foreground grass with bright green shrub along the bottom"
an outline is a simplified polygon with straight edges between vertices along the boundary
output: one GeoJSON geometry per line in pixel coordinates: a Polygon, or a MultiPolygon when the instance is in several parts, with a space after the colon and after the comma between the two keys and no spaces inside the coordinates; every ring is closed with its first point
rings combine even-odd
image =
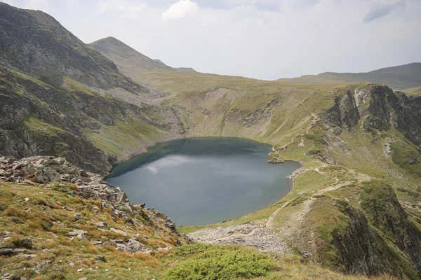
{"type": "Polygon", "coordinates": [[[126,238],[93,227],[95,222],[107,221],[108,228],[149,237],[141,241],[151,248],[175,246],[175,236],[168,232],[159,233],[156,224],[128,225],[119,218],[112,218],[106,208],[98,206],[100,202],[83,200],[66,188],[1,183],[0,232],[13,232],[10,239],[1,240],[1,246],[30,238],[34,247],[27,249],[26,253],[36,256],[1,257],[0,266],[5,272],[29,279],[203,279],[206,274],[207,279],[366,279],[342,276],[315,265],[303,265],[298,256],[278,255],[274,259],[274,255],[242,246],[193,245],[152,254],[128,254],[116,251],[112,246],[93,246],[89,241],[70,240],[65,234],[74,228],[87,230],[90,240],[126,238]],[[25,202],[25,198],[29,201],[25,202]],[[76,213],[83,216],[83,220],[77,223],[74,222],[76,213]],[[96,255],[104,255],[107,262],[95,262],[96,255]],[[51,265],[40,274],[30,269],[39,262],[50,260],[51,265]],[[199,278],[194,278],[193,267],[201,269],[199,278]],[[76,272],[77,269],[82,271],[76,272]],[[183,276],[187,274],[191,278],[183,276]]]}

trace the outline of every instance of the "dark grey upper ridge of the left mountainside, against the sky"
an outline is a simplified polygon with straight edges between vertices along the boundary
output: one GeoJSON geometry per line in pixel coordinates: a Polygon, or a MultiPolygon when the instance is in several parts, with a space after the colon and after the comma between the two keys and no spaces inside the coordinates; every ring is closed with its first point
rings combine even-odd
{"type": "Polygon", "coordinates": [[[0,3],[0,64],[60,86],[62,76],[93,87],[122,87],[137,94],[140,85],[121,75],[114,62],[88,48],[51,15],[0,3]]]}

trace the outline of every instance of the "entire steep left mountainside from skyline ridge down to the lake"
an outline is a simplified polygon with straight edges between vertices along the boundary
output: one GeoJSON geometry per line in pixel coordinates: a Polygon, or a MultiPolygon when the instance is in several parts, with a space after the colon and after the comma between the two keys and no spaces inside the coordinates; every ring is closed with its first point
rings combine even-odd
{"type": "Polygon", "coordinates": [[[0,154],[60,155],[104,174],[180,137],[171,111],[50,15],[0,3],[0,19],[0,154]]]}

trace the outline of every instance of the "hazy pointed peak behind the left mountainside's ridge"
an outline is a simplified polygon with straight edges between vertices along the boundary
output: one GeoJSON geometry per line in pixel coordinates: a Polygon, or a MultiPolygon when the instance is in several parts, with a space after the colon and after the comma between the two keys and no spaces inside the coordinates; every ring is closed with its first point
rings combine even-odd
{"type": "Polygon", "coordinates": [[[112,60],[120,71],[129,77],[135,76],[141,71],[189,71],[195,72],[192,68],[173,68],[161,62],[159,59],[152,59],[131,48],[129,45],[117,40],[114,37],[107,37],[88,44],[93,50],[112,60]]]}

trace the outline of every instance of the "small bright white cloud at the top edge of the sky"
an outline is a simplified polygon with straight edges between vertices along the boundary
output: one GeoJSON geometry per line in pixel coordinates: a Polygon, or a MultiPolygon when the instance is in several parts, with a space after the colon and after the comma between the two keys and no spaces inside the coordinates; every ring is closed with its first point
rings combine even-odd
{"type": "Polygon", "coordinates": [[[138,18],[139,13],[147,7],[147,3],[130,0],[100,0],[96,9],[99,13],[119,11],[123,18],[138,18]]]}

